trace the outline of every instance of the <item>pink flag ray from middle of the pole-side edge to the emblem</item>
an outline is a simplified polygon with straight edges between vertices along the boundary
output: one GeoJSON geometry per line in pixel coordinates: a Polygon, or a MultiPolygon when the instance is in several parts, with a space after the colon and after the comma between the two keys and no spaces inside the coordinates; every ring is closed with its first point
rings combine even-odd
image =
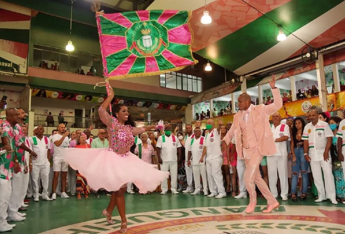
{"type": "Polygon", "coordinates": [[[101,35],[103,56],[107,57],[127,48],[126,38],[121,36],[101,35]]]}

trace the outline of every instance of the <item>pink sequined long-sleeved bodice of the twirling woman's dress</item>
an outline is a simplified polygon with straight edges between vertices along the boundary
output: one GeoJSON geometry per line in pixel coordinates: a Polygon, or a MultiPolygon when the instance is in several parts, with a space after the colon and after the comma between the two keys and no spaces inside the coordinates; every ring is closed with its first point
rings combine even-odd
{"type": "Polygon", "coordinates": [[[126,155],[134,143],[133,135],[143,133],[145,129],[120,124],[117,118],[111,117],[102,107],[98,111],[101,121],[108,128],[109,148],[119,155],[126,155]],[[113,123],[111,123],[111,118],[113,123]]]}

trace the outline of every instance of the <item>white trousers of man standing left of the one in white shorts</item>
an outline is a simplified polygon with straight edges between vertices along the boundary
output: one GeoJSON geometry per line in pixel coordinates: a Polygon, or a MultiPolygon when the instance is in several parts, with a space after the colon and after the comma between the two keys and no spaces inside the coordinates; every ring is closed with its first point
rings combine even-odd
{"type": "Polygon", "coordinates": [[[40,181],[39,177],[41,177],[42,182],[42,196],[48,195],[48,183],[49,183],[49,168],[50,164],[47,163],[46,165],[33,165],[32,166],[32,187],[33,187],[33,197],[38,197],[39,189],[40,189],[40,181]]]}

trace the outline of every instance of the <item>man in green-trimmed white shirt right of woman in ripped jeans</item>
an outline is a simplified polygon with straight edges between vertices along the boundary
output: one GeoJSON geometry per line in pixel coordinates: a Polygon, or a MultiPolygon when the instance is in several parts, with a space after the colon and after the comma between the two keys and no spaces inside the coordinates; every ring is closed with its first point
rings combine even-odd
{"type": "Polygon", "coordinates": [[[304,157],[312,168],[314,183],[319,197],[315,202],[330,199],[333,204],[338,204],[332,174],[332,159],[329,153],[333,132],[326,122],[318,119],[318,115],[317,108],[312,107],[309,112],[311,123],[304,127],[302,135],[304,140],[304,157]],[[322,180],[321,168],[325,179],[325,186],[322,180]]]}

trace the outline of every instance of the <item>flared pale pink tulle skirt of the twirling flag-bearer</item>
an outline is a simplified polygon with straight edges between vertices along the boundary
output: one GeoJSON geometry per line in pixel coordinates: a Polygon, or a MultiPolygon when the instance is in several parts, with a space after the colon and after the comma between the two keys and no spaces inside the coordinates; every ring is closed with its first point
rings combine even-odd
{"type": "Polygon", "coordinates": [[[158,170],[130,152],[127,157],[121,157],[108,148],[63,148],[60,151],[63,159],[95,190],[118,191],[133,182],[140,193],[147,193],[156,190],[161,181],[169,177],[169,172],[158,170]]]}

